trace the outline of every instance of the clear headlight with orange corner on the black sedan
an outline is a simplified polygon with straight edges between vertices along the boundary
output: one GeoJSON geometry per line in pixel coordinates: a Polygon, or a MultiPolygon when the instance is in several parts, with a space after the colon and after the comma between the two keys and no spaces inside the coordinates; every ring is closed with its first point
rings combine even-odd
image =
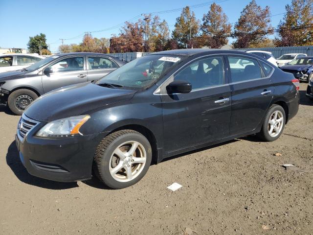
{"type": "Polygon", "coordinates": [[[70,118],[63,118],[55,121],[51,121],[36,134],[38,137],[46,138],[63,138],[80,134],[79,128],[90,118],[89,115],[81,115],[70,118]]]}

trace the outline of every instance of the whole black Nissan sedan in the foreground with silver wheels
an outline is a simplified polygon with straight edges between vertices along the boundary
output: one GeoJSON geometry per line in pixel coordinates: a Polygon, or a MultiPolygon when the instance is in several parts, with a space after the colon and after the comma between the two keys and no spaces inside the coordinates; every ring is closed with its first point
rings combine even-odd
{"type": "Polygon", "coordinates": [[[251,134],[276,140],[298,112],[298,89],[292,74],[245,52],[162,51],[39,97],[16,143],[32,175],[70,182],[94,173],[125,188],[152,161],[251,134]]]}

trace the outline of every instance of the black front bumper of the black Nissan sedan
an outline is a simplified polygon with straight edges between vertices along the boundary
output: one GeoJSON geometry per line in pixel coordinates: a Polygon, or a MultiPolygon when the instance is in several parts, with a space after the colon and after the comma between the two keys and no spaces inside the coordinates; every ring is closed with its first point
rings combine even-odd
{"type": "Polygon", "coordinates": [[[101,135],[45,139],[35,136],[45,123],[38,124],[16,143],[22,164],[28,173],[40,178],[73,182],[91,178],[93,156],[101,135]]]}

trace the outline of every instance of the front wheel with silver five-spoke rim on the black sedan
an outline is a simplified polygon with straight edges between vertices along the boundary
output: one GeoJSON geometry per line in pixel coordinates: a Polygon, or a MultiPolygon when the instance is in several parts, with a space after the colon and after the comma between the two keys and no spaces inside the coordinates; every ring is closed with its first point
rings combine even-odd
{"type": "Polygon", "coordinates": [[[106,136],[98,145],[93,170],[110,188],[126,188],[137,183],[152,160],[150,142],[134,130],[120,130],[106,136]]]}

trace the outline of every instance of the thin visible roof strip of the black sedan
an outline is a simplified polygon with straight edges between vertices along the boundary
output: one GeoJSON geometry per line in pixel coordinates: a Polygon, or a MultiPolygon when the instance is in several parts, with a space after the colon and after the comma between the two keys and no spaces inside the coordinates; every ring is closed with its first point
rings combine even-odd
{"type": "Polygon", "coordinates": [[[216,53],[229,53],[229,54],[246,54],[240,50],[225,50],[225,49],[208,49],[208,48],[194,48],[194,49],[177,49],[177,50],[164,50],[154,52],[148,55],[181,55],[181,56],[193,56],[193,55],[210,55],[216,53]]]}

